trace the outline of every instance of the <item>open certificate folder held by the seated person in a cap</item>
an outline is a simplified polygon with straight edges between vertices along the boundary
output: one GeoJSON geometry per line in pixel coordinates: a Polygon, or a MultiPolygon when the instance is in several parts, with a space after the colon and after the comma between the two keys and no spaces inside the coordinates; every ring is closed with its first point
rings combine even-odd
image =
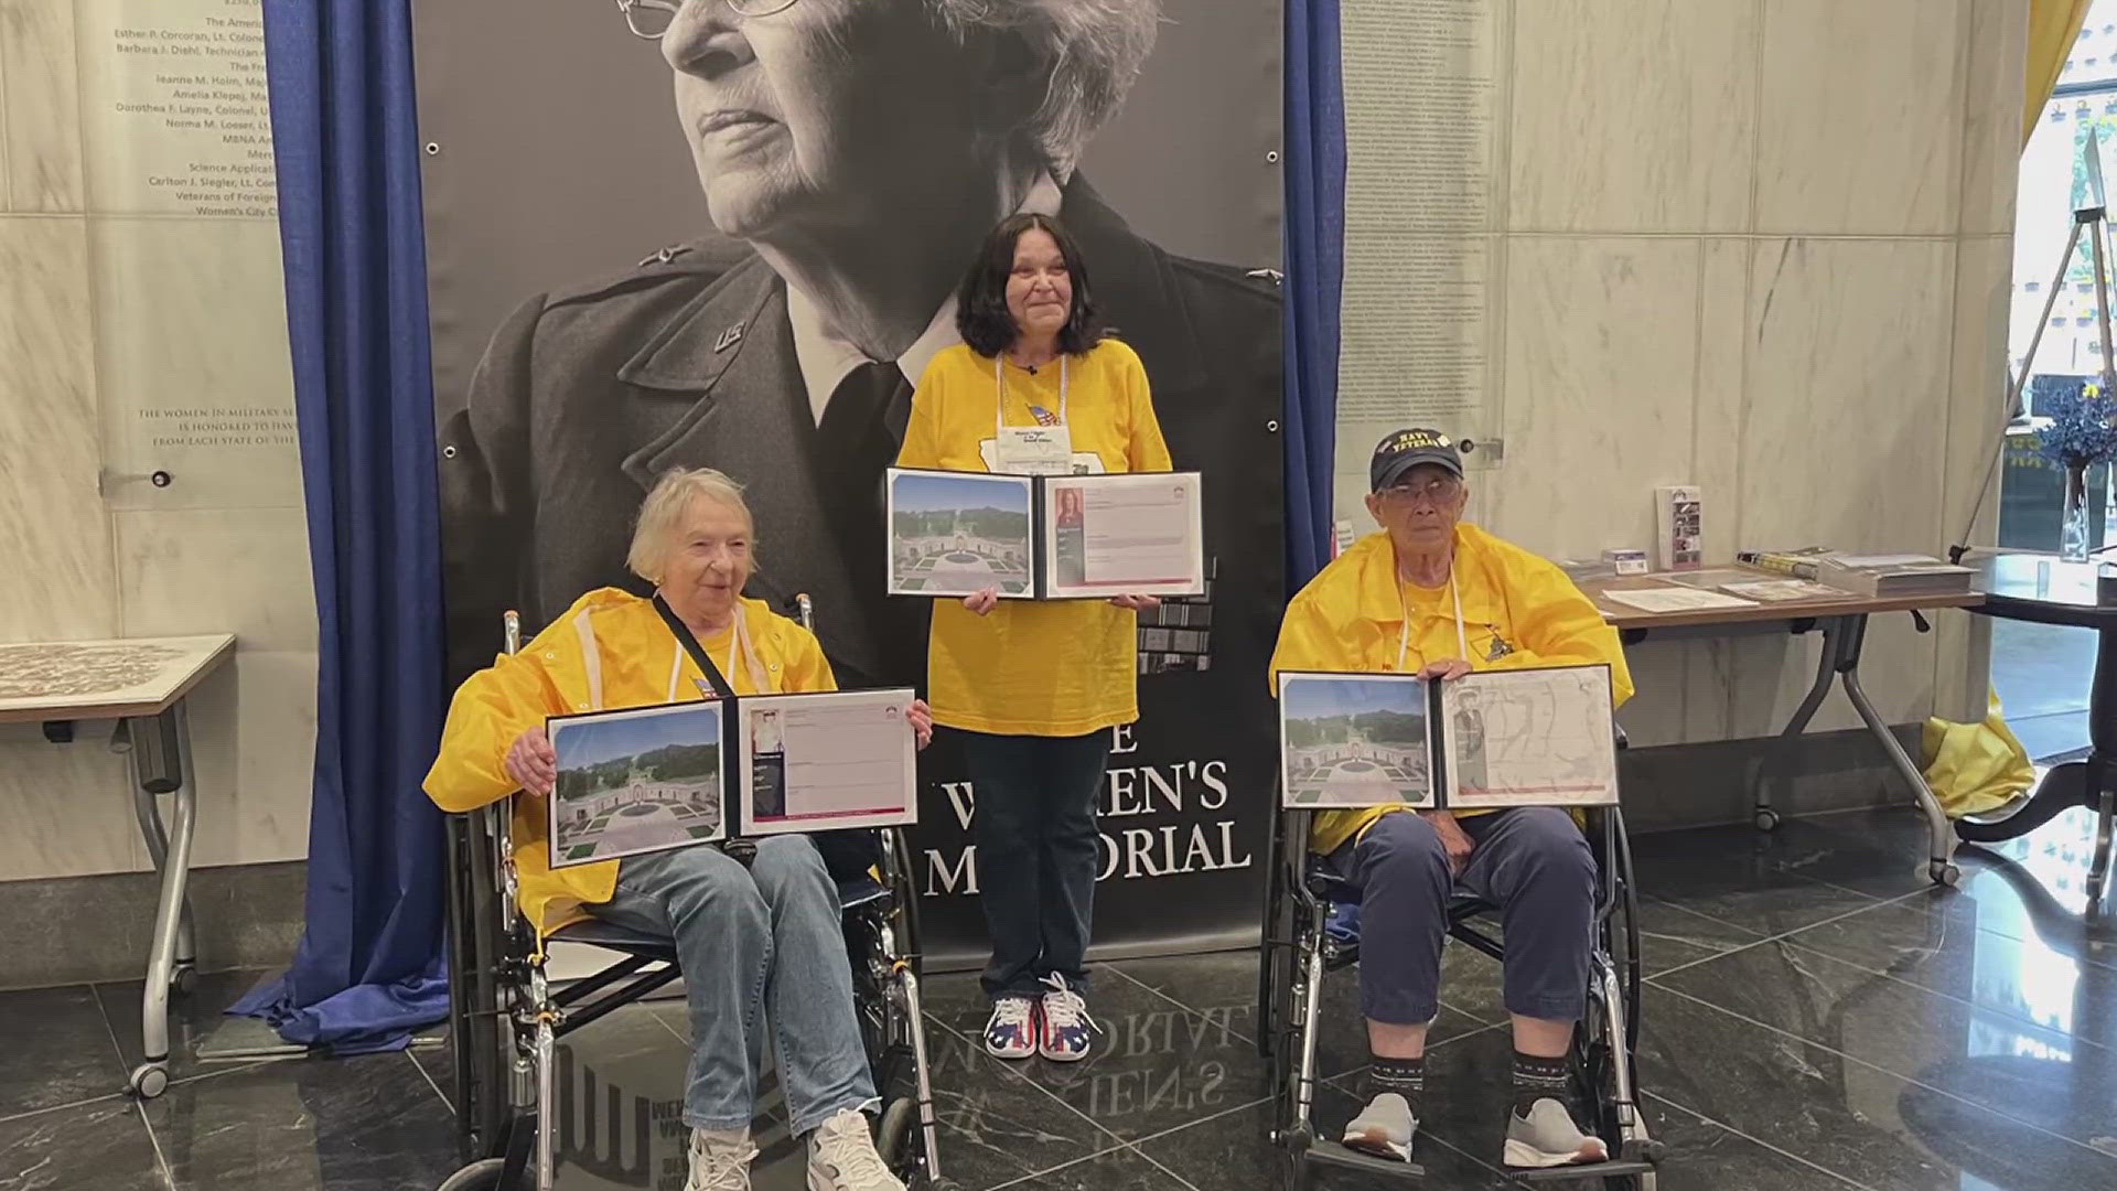
{"type": "Polygon", "coordinates": [[[1281,805],[1435,810],[1613,805],[1607,665],[1279,674],[1281,805]]]}

